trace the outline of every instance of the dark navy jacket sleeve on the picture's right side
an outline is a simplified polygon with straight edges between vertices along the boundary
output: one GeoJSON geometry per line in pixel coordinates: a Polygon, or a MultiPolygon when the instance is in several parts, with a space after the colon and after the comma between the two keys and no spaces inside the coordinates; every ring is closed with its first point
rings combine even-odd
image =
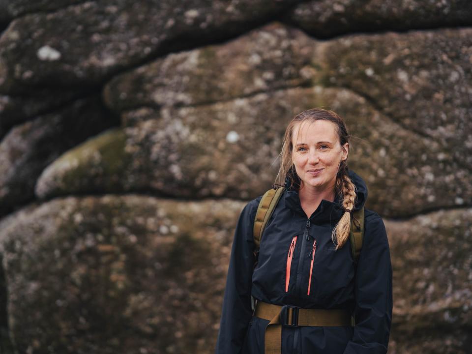
{"type": "Polygon", "coordinates": [[[355,276],[355,326],[344,354],[385,354],[392,321],[392,266],[383,221],[365,220],[355,276]]]}

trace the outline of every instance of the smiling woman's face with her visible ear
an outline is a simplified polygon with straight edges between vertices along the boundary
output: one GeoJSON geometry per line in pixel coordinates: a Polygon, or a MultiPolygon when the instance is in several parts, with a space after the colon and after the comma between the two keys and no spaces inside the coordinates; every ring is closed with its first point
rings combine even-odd
{"type": "Polygon", "coordinates": [[[312,192],[334,190],[349,143],[341,146],[336,125],[329,120],[303,121],[294,127],[292,160],[302,187],[312,192]]]}

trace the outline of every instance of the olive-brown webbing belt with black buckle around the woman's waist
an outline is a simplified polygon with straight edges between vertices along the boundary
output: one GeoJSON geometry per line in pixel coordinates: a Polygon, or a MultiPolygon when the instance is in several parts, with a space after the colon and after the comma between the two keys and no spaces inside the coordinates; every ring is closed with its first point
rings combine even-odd
{"type": "Polygon", "coordinates": [[[354,318],[349,310],[305,309],[295,306],[280,306],[258,301],[254,316],[270,321],[266,326],[265,354],[280,354],[282,326],[352,326],[354,318]]]}

